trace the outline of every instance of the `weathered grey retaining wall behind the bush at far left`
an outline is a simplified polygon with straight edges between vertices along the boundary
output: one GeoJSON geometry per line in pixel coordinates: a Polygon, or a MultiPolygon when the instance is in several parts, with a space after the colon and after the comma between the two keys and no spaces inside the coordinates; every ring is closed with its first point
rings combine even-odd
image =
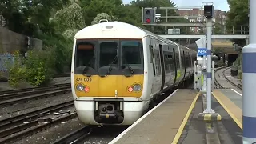
{"type": "Polygon", "coordinates": [[[13,61],[15,50],[25,53],[29,49],[42,50],[42,40],[29,38],[30,46],[26,45],[26,35],[15,33],[0,26],[0,72],[6,72],[6,60],[13,61]]]}

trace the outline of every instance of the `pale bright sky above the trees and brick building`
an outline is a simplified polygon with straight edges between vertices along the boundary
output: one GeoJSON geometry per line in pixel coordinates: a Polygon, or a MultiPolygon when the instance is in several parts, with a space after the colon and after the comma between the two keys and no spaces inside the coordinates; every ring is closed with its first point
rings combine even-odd
{"type": "MultiPolygon", "coordinates": [[[[122,0],[124,3],[130,3],[131,0],[122,0]]],[[[202,6],[202,2],[214,2],[214,8],[222,11],[230,10],[226,0],[172,0],[178,7],[202,6]]]]}

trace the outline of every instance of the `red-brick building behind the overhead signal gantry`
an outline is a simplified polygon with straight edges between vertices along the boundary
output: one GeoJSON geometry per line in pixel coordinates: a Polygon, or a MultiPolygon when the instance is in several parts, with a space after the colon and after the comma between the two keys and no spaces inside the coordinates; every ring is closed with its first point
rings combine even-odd
{"type": "MultiPolygon", "coordinates": [[[[206,18],[203,16],[203,14],[204,11],[202,9],[178,10],[178,16],[181,18],[186,18],[189,20],[189,22],[206,23],[206,18]]],[[[225,31],[226,11],[214,10],[213,22],[215,24],[214,28],[218,26],[218,29],[225,31]]],[[[190,27],[190,31],[193,33],[201,33],[206,31],[206,27],[190,27]]]]}

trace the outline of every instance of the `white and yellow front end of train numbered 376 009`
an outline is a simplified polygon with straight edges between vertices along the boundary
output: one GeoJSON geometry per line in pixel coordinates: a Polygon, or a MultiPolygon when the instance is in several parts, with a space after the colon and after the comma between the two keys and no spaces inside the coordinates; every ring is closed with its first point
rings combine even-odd
{"type": "Polygon", "coordinates": [[[144,34],[129,24],[104,22],[75,35],[71,83],[82,122],[130,125],[148,108],[144,34]]]}

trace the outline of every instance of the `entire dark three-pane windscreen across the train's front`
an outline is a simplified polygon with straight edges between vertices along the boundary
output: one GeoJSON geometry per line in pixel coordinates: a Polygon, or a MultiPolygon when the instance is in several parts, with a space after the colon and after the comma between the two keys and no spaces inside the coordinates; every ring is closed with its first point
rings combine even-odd
{"type": "Polygon", "coordinates": [[[142,40],[78,40],[74,60],[77,74],[85,67],[89,70],[143,70],[142,40]]]}

